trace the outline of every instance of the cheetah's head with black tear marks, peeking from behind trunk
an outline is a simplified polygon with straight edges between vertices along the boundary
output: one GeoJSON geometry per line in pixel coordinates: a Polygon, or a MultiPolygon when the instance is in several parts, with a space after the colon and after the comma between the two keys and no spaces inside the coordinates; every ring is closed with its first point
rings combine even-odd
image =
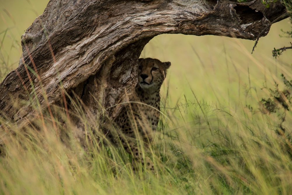
{"type": "Polygon", "coordinates": [[[139,59],[138,83],[142,89],[160,87],[170,62],[161,62],[152,58],[139,59]]]}

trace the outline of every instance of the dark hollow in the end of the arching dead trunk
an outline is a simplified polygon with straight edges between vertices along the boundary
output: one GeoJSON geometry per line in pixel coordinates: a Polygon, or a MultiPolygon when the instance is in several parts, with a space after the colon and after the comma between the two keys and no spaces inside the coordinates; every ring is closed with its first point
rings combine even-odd
{"type": "Polygon", "coordinates": [[[261,20],[264,17],[263,13],[253,10],[248,6],[236,5],[234,9],[241,20],[240,24],[253,23],[257,20],[261,20]]]}

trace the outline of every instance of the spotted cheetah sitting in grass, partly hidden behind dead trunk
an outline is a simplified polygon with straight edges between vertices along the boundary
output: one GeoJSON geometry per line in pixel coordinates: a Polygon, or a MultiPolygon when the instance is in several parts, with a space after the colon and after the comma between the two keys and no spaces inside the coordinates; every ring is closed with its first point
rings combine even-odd
{"type": "MultiPolygon", "coordinates": [[[[133,155],[136,163],[139,162],[154,172],[151,159],[147,156],[143,158],[139,146],[143,144],[147,152],[157,129],[160,115],[159,91],[171,63],[140,58],[138,65],[135,96],[115,120],[119,130],[108,136],[115,144],[121,143],[126,152],[133,155]],[[142,140],[143,143],[137,140],[142,140]]],[[[134,170],[136,165],[133,164],[134,170]]]]}

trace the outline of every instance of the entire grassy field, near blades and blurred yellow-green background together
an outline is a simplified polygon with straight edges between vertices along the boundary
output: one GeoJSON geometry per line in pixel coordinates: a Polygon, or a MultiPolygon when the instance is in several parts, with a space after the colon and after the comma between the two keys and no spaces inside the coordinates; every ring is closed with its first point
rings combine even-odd
{"type": "MultiPolygon", "coordinates": [[[[0,81],[18,66],[20,36],[47,2],[0,0],[0,81]]],[[[172,63],[152,147],[155,174],[133,172],[131,157],[111,146],[65,147],[49,124],[25,134],[12,126],[0,194],[291,194],[291,104],[263,114],[259,103],[275,82],[284,89],[282,73],[292,79],[292,51],[272,57],[274,47],[290,46],[281,29],[291,30],[288,19],[273,24],[253,54],[254,41],[211,35],[162,34],[145,46],[141,57],[172,63]]]]}

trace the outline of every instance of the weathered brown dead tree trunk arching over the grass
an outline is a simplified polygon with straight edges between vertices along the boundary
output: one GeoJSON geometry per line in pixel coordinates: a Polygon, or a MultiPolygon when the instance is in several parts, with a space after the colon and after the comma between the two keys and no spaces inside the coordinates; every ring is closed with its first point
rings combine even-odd
{"type": "MultiPolygon", "coordinates": [[[[265,36],[286,18],[279,3],[261,0],[51,0],[22,35],[19,67],[0,84],[1,117],[19,125],[62,98],[62,89],[84,103],[88,118],[131,96],[137,63],[147,42],[163,33],[213,34],[242,39],[265,36]],[[61,86],[62,83],[62,87],[61,86]],[[46,101],[44,96],[53,94],[46,101]]],[[[114,118],[120,107],[107,109],[114,118]]]]}

